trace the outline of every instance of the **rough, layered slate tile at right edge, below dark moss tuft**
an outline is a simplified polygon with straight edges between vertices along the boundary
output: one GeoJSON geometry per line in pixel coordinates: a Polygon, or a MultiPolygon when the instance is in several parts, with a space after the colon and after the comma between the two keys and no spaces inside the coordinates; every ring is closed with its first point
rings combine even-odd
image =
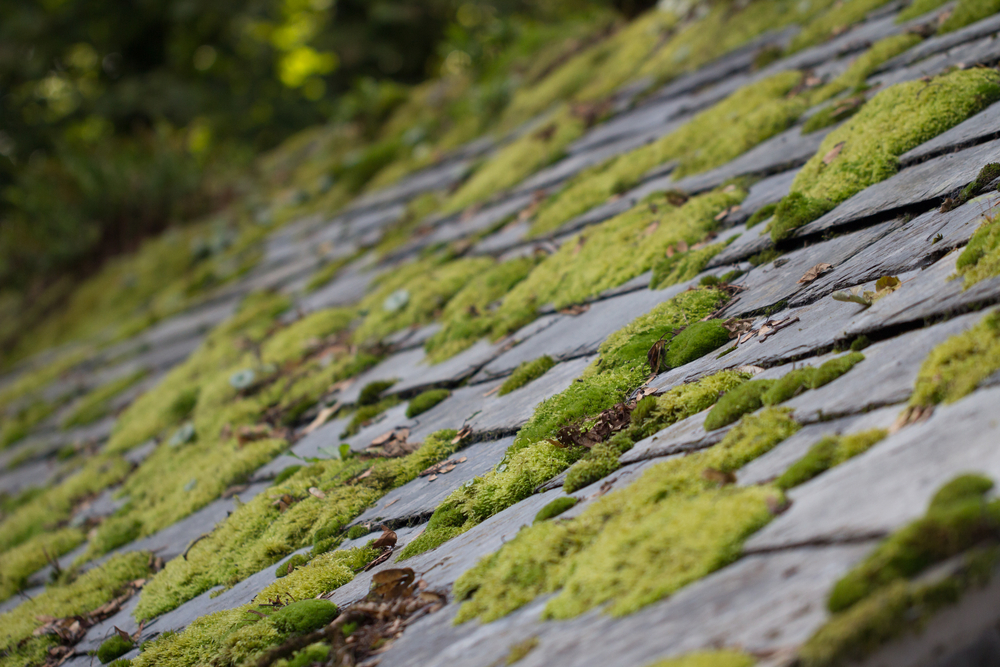
{"type": "Polygon", "coordinates": [[[947,252],[968,243],[982,224],[984,214],[997,204],[1000,195],[990,193],[947,213],[931,209],[896,226],[870,247],[806,285],[789,304],[802,305],[834,290],[926,268],[947,252]]]}

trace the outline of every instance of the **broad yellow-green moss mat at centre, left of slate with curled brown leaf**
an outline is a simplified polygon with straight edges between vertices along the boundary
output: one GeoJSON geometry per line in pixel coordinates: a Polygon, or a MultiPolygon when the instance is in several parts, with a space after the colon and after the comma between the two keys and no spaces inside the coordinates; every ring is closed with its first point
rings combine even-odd
{"type": "Polygon", "coordinates": [[[666,195],[653,195],[581,232],[510,291],[494,315],[494,336],[531,322],[547,303],[562,308],[621,285],[652,268],[670,246],[694,245],[718,224],[715,216],[744,194],[738,188],[717,190],[680,207],[666,195]]]}

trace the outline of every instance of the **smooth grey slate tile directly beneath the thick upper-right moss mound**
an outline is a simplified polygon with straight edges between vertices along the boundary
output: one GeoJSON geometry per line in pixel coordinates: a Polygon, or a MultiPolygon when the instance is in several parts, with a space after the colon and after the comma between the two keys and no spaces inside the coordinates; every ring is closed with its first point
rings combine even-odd
{"type": "Polygon", "coordinates": [[[795,236],[825,234],[865,218],[886,218],[899,209],[943,199],[971,183],[983,165],[995,162],[998,157],[1000,140],[994,140],[927,160],[862,190],[821,218],[800,227],[795,236]]]}

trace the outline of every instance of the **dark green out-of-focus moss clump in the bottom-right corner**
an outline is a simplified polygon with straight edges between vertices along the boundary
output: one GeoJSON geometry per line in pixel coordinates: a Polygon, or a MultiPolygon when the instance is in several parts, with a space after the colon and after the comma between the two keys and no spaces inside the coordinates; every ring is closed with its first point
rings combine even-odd
{"type": "Polygon", "coordinates": [[[834,586],[833,617],[802,647],[805,667],[853,664],[886,642],[918,631],[938,610],[989,581],[1000,553],[1000,501],[987,501],[989,479],[962,475],[943,486],[927,513],[880,544],[834,586]],[[947,575],[917,578],[961,556],[947,575]]]}

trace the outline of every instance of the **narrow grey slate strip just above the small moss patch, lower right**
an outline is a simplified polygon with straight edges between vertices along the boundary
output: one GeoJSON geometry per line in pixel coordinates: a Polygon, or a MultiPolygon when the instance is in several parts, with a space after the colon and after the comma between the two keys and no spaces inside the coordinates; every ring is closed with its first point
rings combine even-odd
{"type": "Polygon", "coordinates": [[[789,466],[805,456],[809,449],[829,435],[849,435],[870,429],[888,429],[896,420],[902,405],[893,405],[873,412],[842,417],[833,421],[808,424],[777,447],[754,459],[736,472],[737,484],[763,484],[780,476],[789,466]]]}

